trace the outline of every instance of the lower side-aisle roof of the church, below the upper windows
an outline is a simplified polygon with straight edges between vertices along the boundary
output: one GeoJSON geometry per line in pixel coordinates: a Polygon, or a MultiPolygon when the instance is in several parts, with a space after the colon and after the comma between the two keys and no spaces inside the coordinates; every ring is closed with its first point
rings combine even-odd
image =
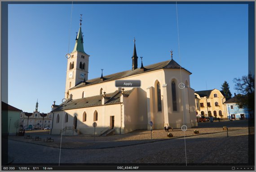
{"type": "MultiPolygon", "coordinates": [[[[134,89],[135,88],[133,88],[132,90],[124,91],[124,95],[129,96],[134,89]]],[[[106,94],[106,99],[108,99],[108,100],[106,101],[106,103],[104,105],[120,103],[121,94],[122,94],[122,92],[118,91],[118,90],[116,90],[113,93],[106,94]]],[[[65,104],[65,110],[84,108],[84,107],[104,106],[104,105],[102,105],[102,97],[103,97],[103,95],[95,95],[95,96],[91,96],[91,97],[85,97],[82,99],[70,100],[65,104]]],[[[63,105],[64,104],[62,103],[59,107],[57,107],[53,111],[63,110],[63,105]]]]}

